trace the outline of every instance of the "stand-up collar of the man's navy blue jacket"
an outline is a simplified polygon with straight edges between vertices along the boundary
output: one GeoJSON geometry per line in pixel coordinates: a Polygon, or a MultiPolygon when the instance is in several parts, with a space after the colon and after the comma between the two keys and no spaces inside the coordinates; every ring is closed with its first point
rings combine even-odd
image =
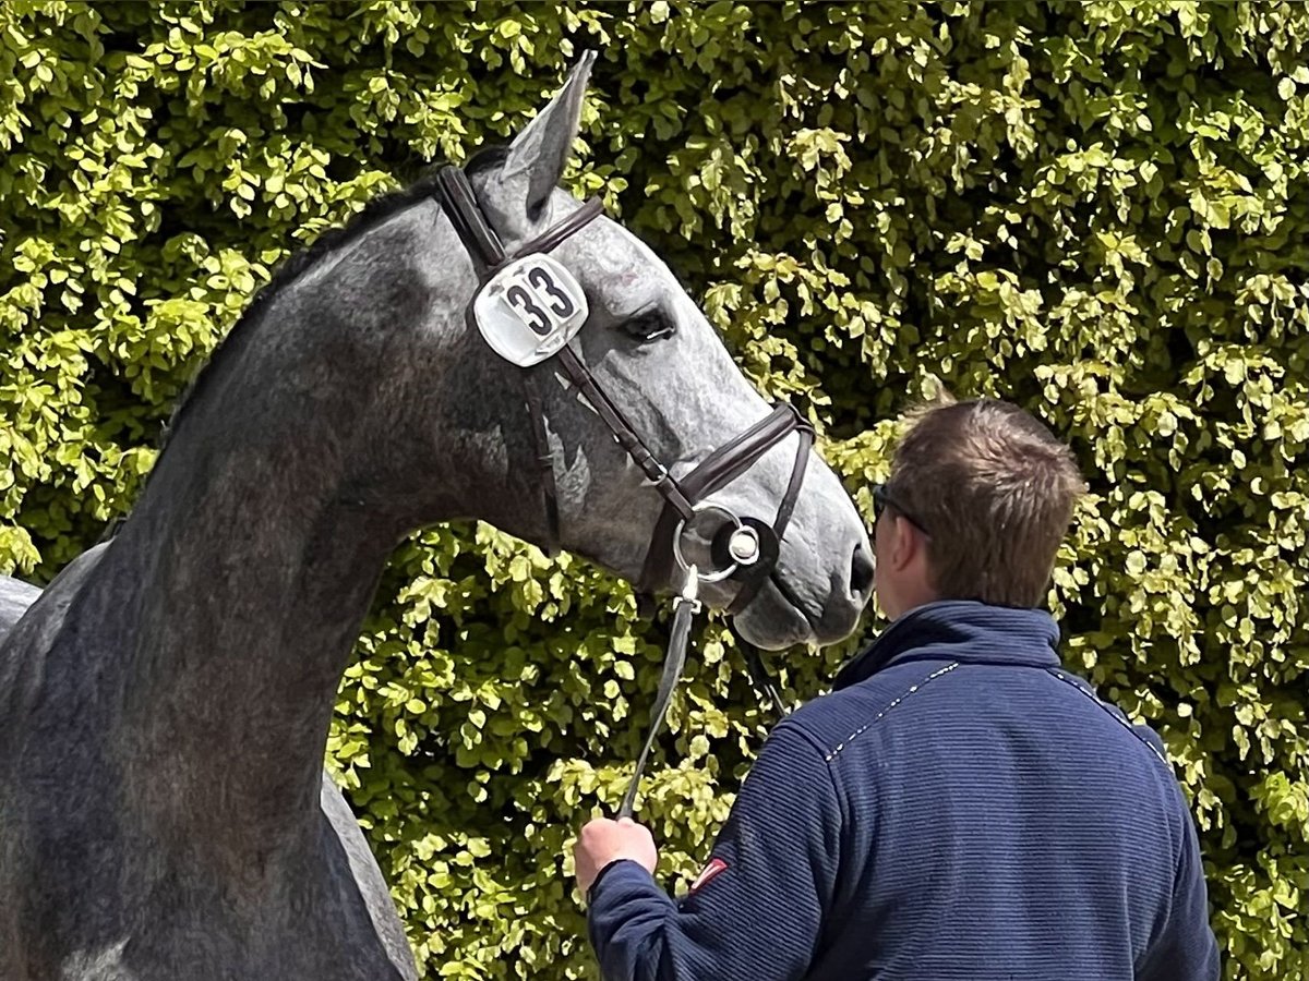
{"type": "Polygon", "coordinates": [[[1043,610],[949,599],[911,610],[836,674],[834,691],[906,661],[1059,667],[1059,625],[1043,610]]]}

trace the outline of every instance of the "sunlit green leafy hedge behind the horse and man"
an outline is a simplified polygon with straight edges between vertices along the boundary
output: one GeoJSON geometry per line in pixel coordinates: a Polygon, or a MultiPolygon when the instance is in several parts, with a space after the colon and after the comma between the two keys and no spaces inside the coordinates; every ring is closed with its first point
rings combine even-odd
{"type": "MultiPolygon", "coordinates": [[[[1092,496],[1067,659],[1168,742],[1230,978],[1309,977],[1309,13],[1293,3],[0,5],[0,568],[127,511],[289,250],[597,47],[576,192],[669,259],[867,509],[932,377],[1092,496]]],[[[590,976],[562,858],[665,625],[486,527],[394,556],[331,765],[428,977],[590,976]]],[[[809,697],[853,641],[796,651],[809,697]]],[[[711,625],[644,815],[683,878],[763,719],[711,625]]]]}

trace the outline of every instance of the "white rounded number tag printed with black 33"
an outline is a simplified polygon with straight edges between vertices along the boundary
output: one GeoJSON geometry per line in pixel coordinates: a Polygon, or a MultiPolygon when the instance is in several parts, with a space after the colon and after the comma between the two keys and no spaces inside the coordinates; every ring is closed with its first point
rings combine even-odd
{"type": "Polygon", "coordinates": [[[520,368],[541,364],[586,322],[581,284],[548,255],[505,266],[473,301],[473,319],[487,344],[520,368]]]}

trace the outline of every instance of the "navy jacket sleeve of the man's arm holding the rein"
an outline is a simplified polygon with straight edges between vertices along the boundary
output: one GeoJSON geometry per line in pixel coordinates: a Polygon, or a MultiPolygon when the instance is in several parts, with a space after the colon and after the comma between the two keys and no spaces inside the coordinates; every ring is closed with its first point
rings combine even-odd
{"type": "Polygon", "coordinates": [[[698,887],[674,903],[637,862],[590,889],[606,981],[783,981],[808,971],[831,905],[842,806],[817,746],[783,722],[750,770],[698,887]],[[721,867],[720,867],[721,866],[721,867]]]}

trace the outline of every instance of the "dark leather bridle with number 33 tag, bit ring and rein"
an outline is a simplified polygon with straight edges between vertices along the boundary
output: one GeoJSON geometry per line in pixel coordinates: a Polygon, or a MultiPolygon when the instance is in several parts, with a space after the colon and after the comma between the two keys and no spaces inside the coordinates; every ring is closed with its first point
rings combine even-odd
{"type": "MultiPolygon", "coordinates": [[[[524,369],[524,400],[531,420],[535,442],[539,487],[545,504],[546,528],[551,551],[558,548],[559,501],[555,483],[554,454],[546,434],[546,420],[531,371],[537,364],[554,360],[568,382],[605,421],[614,438],[644,472],[649,484],[662,496],[664,510],[651,535],[645,561],[636,582],[637,596],[648,598],[660,586],[673,582],[682,573],[682,594],[674,600],[673,638],[664,666],[664,679],[656,698],[653,722],[645,748],[637,760],[636,776],[623,802],[620,814],[631,814],[641,769],[649,755],[658,726],[682,670],[691,617],[699,611],[698,590],[703,582],[733,581],[738,590],[728,607],[734,615],[745,610],[772,573],[781,549],[781,538],[795,511],[796,497],[804,483],[814,432],[795,407],[778,405],[744,433],[719,446],[686,476],[678,479],[641,439],[623,411],[614,404],[571,345],[588,318],[585,294],[576,279],[547,254],[580,232],[603,212],[598,199],[590,199],[577,211],[552,225],[537,238],[508,252],[486,220],[467,175],[456,166],[437,173],[436,196],[450,224],[473,258],[478,272],[478,292],[466,309],[466,318],[492,349],[511,364],[524,369]],[[766,453],[792,433],[798,436],[791,479],[771,522],[753,515],[740,517],[706,498],[730,484],[753,467],[766,453]],[[719,517],[711,538],[712,569],[700,569],[683,555],[683,538],[704,518],[719,517]],[[679,566],[678,569],[674,569],[679,566]]],[[[645,603],[648,606],[648,603],[645,603]]],[[[747,667],[757,691],[768,691],[780,706],[770,683],[761,683],[758,653],[747,649],[747,667]]]]}

